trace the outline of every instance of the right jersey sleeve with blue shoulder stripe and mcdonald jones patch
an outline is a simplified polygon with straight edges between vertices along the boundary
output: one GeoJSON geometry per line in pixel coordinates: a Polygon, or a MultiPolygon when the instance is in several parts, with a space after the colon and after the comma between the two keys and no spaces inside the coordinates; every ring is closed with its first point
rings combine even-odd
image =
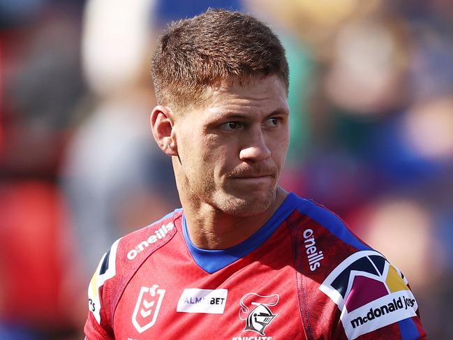
{"type": "Polygon", "coordinates": [[[325,207],[302,200],[290,217],[308,339],[426,339],[399,269],[325,207]]]}

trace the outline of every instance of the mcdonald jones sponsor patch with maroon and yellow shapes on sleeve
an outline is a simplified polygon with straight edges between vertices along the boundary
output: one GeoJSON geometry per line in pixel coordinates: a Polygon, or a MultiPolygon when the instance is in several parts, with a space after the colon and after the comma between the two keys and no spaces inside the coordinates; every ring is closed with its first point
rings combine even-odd
{"type": "Polygon", "coordinates": [[[352,254],[319,289],[339,307],[348,339],[417,315],[408,281],[377,251],[352,254]]]}

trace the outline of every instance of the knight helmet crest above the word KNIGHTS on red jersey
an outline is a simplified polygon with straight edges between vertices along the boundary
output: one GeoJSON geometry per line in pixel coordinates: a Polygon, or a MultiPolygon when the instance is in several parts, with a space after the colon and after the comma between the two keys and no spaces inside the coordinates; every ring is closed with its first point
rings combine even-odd
{"type": "Polygon", "coordinates": [[[239,302],[241,305],[239,318],[246,321],[246,327],[242,332],[251,331],[266,335],[266,327],[278,315],[272,313],[269,306],[275,306],[278,303],[278,294],[262,296],[256,293],[247,293],[244,295],[239,302]]]}

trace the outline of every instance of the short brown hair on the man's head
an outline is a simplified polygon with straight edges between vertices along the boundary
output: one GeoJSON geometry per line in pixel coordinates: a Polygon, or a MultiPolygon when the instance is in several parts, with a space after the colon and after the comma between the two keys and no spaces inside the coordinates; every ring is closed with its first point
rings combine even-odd
{"type": "Polygon", "coordinates": [[[200,105],[207,87],[230,77],[278,75],[289,86],[279,38],[255,17],[228,10],[172,23],[158,40],[151,74],[157,103],[174,110],[200,105]]]}

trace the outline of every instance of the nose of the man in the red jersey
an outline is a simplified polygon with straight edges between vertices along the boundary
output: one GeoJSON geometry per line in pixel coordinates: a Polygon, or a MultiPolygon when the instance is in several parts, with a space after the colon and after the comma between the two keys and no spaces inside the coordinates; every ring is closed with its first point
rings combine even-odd
{"type": "Polygon", "coordinates": [[[244,146],[239,151],[242,161],[262,162],[271,156],[271,150],[267,146],[265,135],[261,128],[253,128],[246,132],[244,146]]]}

